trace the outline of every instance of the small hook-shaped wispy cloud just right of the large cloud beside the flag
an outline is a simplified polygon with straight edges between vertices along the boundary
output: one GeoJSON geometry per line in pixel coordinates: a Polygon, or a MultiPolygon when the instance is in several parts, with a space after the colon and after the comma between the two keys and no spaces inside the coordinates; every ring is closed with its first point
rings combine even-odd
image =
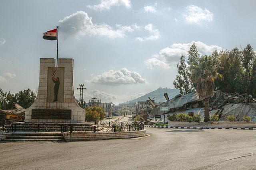
{"type": "Polygon", "coordinates": [[[159,30],[152,23],[146,25],[144,29],[148,31],[150,35],[148,37],[136,37],[136,41],[143,42],[147,40],[156,40],[161,37],[159,30]]]}

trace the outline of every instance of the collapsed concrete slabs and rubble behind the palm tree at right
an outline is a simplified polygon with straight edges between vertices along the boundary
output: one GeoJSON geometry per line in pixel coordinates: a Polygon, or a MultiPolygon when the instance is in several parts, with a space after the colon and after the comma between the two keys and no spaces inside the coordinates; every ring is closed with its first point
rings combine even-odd
{"type": "MultiPolygon", "coordinates": [[[[172,113],[188,114],[189,112],[194,112],[204,118],[203,101],[199,99],[196,92],[183,96],[176,95],[175,98],[153,108],[148,118],[159,114],[165,114],[167,117],[172,113]],[[169,111],[161,112],[160,107],[168,107],[169,111]]],[[[256,99],[250,94],[214,91],[214,96],[210,99],[210,116],[214,114],[219,115],[220,121],[226,121],[228,115],[234,115],[236,121],[242,121],[245,115],[250,116],[252,121],[256,121],[256,99]]]]}

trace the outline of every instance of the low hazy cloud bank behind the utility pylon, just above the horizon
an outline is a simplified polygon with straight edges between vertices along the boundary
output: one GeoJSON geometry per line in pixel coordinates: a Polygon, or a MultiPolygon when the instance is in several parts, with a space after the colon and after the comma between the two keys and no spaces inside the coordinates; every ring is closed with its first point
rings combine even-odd
{"type": "MultiPolygon", "coordinates": [[[[129,100],[134,100],[145,94],[146,94],[145,92],[137,92],[134,94],[116,95],[116,94],[106,93],[100,90],[92,90],[90,92],[87,92],[87,91],[84,92],[84,100],[88,102],[88,100],[91,100],[92,98],[96,97],[98,100],[101,100],[101,102],[112,102],[115,104],[120,104],[129,100]]],[[[79,91],[75,90],[75,96],[77,99],[79,99],[79,91]]]]}

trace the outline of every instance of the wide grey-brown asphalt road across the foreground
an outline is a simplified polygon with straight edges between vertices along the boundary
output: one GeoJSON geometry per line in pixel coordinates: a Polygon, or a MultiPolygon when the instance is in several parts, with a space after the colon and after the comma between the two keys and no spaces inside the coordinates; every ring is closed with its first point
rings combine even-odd
{"type": "Polygon", "coordinates": [[[256,131],[147,128],[148,137],[0,142],[0,169],[256,170],[256,131]]]}

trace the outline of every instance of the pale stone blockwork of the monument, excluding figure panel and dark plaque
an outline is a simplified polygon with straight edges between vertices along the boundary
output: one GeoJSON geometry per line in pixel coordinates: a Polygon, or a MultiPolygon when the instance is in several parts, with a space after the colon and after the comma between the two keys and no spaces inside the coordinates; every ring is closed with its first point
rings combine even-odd
{"type": "Polygon", "coordinates": [[[58,59],[64,67],[64,102],[47,102],[48,67],[55,66],[55,59],[40,59],[38,95],[35,102],[25,111],[25,122],[31,123],[84,123],[85,110],[75,100],[73,90],[73,59],[58,59]],[[32,109],[71,109],[71,119],[32,119],[32,109]]]}

